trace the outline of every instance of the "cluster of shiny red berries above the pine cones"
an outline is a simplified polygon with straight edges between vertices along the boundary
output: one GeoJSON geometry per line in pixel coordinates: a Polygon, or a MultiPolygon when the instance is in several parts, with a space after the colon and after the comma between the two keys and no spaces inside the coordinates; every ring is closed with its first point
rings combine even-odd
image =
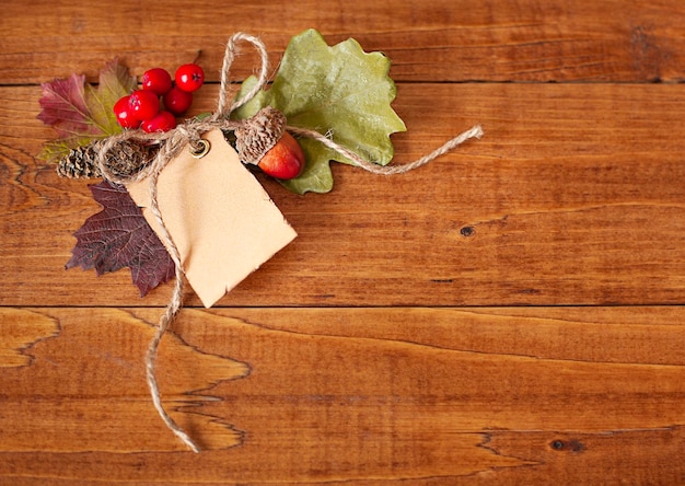
{"type": "Polygon", "coordinates": [[[114,105],[117,121],[124,128],[141,128],[149,134],[169,131],[176,127],[176,116],[193,104],[193,92],[205,82],[205,71],[196,63],[183,65],[172,81],[169,71],[153,68],[140,81],[140,90],[114,105]]]}

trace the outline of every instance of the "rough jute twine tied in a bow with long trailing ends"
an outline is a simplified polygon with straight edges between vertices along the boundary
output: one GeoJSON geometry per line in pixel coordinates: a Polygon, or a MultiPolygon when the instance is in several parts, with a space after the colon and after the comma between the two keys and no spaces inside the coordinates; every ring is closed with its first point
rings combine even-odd
{"type": "MultiPolygon", "coordinates": [[[[184,271],[181,264],[181,256],[178,254],[178,248],[174,244],[174,241],[169,233],[166,225],[164,224],[164,218],[160,212],[159,201],[158,201],[158,178],[161,172],[164,170],[166,164],[171,162],[178,153],[186,147],[190,146],[193,148],[197,148],[200,143],[202,134],[212,130],[212,129],[222,129],[222,130],[234,130],[236,135],[249,132],[249,127],[247,124],[254,123],[254,119],[247,120],[232,120],[230,119],[231,113],[244,105],[248,101],[251,101],[268,82],[268,53],[266,50],[265,45],[257,37],[254,37],[244,33],[236,33],[229,39],[225,53],[223,57],[223,67],[221,70],[221,89],[219,91],[219,100],[217,111],[208,118],[197,119],[191,118],[183,124],[178,125],[173,130],[166,132],[155,132],[155,134],[146,134],[142,130],[124,130],[121,134],[108,137],[97,144],[96,150],[96,165],[100,169],[104,178],[117,183],[117,184],[128,184],[132,182],[139,182],[143,180],[149,181],[150,186],[150,210],[154,216],[159,229],[160,229],[160,238],[166,244],[166,247],[170,252],[171,258],[175,265],[175,285],[174,291],[171,298],[169,305],[164,314],[160,317],[160,323],[156,328],[156,333],[154,334],[150,345],[148,347],[148,352],[146,355],[146,371],[147,371],[147,380],[148,386],[150,389],[150,395],[152,397],[152,403],[156,408],[160,417],[164,420],[166,426],[194,452],[199,452],[200,449],[197,443],[186,433],[176,421],[169,416],[164,407],[162,406],[162,400],[160,396],[160,390],[155,378],[155,361],[158,348],[160,346],[160,342],[162,340],[162,336],[172,325],[174,317],[178,313],[182,308],[182,298],[183,298],[183,289],[184,289],[184,271]],[[253,47],[257,50],[260,57],[260,69],[257,83],[252,88],[252,90],[241,99],[234,101],[231,105],[229,105],[228,101],[228,88],[229,88],[229,74],[231,70],[231,66],[235,56],[237,54],[236,44],[240,42],[247,42],[253,45],[253,47]],[[119,172],[113,171],[112,167],[107,163],[107,155],[116,152],[117,146],[124,142],[135,142],[141,144],[156,144],[159,150],[156,154],[150,161],[150,163],[146,164],[140,171],[135,172],[132,174],[121,175],[119,172]]],[[[268,112],[260,112],[259,116],[263,116],[268,112]]],[[[255,118],[258,118],[255,117],[255,118]]],[[[259,123],[259,120],[256,120],[259,123]]],[[[279,126],[279,124],[285,123],[285,117],[282,114],[274,114],[267,120],[267,125],[271,124],[275,126],[271,127],[275,134],[282,132],[283,129],[299,136],[299,137],[309,137],[318,140],[324,146],[335,150],[341,155],[346,157],[355,164],[360,166],[361,169],[371,172],[373,174],[402,174],[405,172],[409,172],[414,169],[420,167],[421,165],[432,161],[433,159],[449,152],[455,147],[462,144],[464,141],[471,138],[480,138],[483,136],[483,129],[479,126],[475,126],[467,131],[458,135],[452,140],[444,143],[442,147],[436,149],[431,153],[407,164],[403,165],[390,165],[382,166],[374,164],[363,158],[361,158],[358,153],[352,150],[349,150],[338,143],[336,143],[330,135],[322,135],[318,131],[311,130],[307,128],[292,127],[286,125],[279,126]]],[[[264,121],[262,120],[262,124],[264,121]]],[[[264,148],[268,148],[270,144],[275,143],[267,141],[264,143],[264,148]]],[[[249,144],[249,141],[247,143],[249,144]]],[[[255,160],[244,160],[244,162],[256,163],[255,160]]]]}

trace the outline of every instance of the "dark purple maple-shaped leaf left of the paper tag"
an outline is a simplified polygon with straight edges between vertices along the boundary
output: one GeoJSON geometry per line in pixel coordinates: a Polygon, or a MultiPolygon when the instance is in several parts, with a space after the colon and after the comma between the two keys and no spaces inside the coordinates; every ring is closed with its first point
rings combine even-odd
{"type": "Polygon", "coordinates": [[[67,268],[95,268],[103,275],[129,267],[140,297],[172,278],[174,262],[126,187],[103,181],[90,189],[103,210],[73,233],[77,244],[67,268]]]}

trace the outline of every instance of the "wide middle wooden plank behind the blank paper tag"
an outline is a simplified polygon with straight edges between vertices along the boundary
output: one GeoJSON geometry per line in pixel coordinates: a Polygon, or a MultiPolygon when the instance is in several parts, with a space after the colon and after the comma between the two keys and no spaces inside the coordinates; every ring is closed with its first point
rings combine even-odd
{"type": "MultiPolygon", "coordinates": [[[[221,304],[683,303],[684,90],[402,84],[397,163],[475,123],[485,138],[392,178],[334,164],[328,195],[263,180],[300,236],[221,304]]],[[[216,96],[208,86],[195,108],[216,96]]],[[[35,159],[55,136],[35,119],[38,97],[0,91],[0,303],[139,305],[127,271],[63,270],[98,206],[35,159]]]]}

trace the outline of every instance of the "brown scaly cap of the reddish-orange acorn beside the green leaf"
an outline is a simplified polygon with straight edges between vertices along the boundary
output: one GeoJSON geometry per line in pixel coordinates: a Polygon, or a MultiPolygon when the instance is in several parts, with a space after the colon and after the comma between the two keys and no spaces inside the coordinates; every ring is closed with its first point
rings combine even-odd
{"type": "Polygon", "coordinates": [[[244,163],[257,164],[280,140],[286,130],[286,116],[266,106],[235,129],[235,148],[244,163]]]}

